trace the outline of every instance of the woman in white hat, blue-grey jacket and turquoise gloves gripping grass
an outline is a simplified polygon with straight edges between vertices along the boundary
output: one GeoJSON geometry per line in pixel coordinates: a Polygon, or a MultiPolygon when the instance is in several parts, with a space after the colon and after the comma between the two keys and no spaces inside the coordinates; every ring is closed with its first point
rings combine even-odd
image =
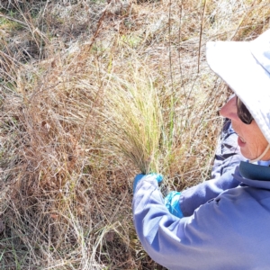
{"type": "Polygon", "coordinates": [[[269,269],[270,30],[249,42],[208,42],[206,55],[235,93],[220,114],[249,161],[170,193],[166,205],[160,177],[137,175],[135,228],[149,256],[169,269],[269,269]]]}

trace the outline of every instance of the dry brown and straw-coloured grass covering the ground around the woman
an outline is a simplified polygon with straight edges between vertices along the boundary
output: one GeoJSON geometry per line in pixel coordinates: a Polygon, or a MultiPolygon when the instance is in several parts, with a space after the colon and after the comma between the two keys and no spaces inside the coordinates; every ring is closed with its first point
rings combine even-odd
{"type": "Polygon", "coordinates": [[[268,1],[0,4],[0,268],[163,269],[132,225],[132,179],[209,178],[228,93],[207,40],[269,28],[268,1]]]}

